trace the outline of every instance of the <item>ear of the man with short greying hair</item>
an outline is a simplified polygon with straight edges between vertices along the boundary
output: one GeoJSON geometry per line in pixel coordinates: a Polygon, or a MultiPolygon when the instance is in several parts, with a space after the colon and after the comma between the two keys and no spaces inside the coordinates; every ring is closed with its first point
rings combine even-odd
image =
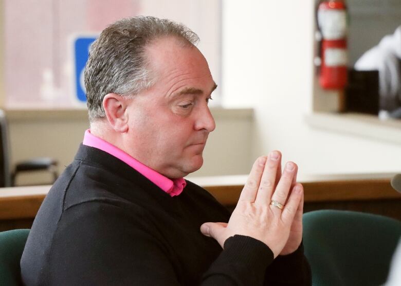
{"type": "Polygon", "coordinates": [[[117,132],[126,132],[128,130],[128,117],[125,113],[126,98],[110,93],[104,96],[102,104],[110,126],[117,132]]]}

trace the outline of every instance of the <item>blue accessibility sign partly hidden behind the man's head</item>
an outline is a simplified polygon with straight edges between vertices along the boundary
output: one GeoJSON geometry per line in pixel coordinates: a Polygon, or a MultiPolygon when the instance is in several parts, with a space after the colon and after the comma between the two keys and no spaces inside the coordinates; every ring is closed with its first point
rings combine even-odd
{"type": "Polygon", "coordinates": [[[74,41],[75,62],[75,86],[77,98],[80,102],[86,102],[84,70],[89,57],[90,45],[96,37],[79,37],[74,41]]]}

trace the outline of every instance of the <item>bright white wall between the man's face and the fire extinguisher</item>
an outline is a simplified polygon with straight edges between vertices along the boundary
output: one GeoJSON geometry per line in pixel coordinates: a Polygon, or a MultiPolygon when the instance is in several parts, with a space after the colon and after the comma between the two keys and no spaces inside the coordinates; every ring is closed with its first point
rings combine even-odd
{"type": "Polygon", "coordinates": [[[223,2],[224,106],[252,106],[252,156],[278,149],[304,174],[399,172],[401,146],[311,129],[314,3],[223,2]],[[398,158],[398,159],[396,159],[398,158]]]}

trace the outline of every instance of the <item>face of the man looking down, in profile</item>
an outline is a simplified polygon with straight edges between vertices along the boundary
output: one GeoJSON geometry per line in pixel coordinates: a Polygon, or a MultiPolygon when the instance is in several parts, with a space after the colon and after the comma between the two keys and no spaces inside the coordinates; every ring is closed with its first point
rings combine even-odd
{"type": "Polygon", "coordinates": [[[216,85],[196,47],[162,38],[147,49],[155,84],[129,101],[124,149],[170,178],[203,164],[202,152],[215,128],[208,101],[216,85]]]}

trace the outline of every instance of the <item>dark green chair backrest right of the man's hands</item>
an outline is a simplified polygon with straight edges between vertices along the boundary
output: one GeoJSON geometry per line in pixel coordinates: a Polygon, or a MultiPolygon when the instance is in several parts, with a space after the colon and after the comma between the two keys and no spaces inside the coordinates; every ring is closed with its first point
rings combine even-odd
{"type": "Polygon", "coordinates": [[[313,285],[380,285],[401,237],[401,222],[376,214],[304,213],[303,243],[313,285]]]}

